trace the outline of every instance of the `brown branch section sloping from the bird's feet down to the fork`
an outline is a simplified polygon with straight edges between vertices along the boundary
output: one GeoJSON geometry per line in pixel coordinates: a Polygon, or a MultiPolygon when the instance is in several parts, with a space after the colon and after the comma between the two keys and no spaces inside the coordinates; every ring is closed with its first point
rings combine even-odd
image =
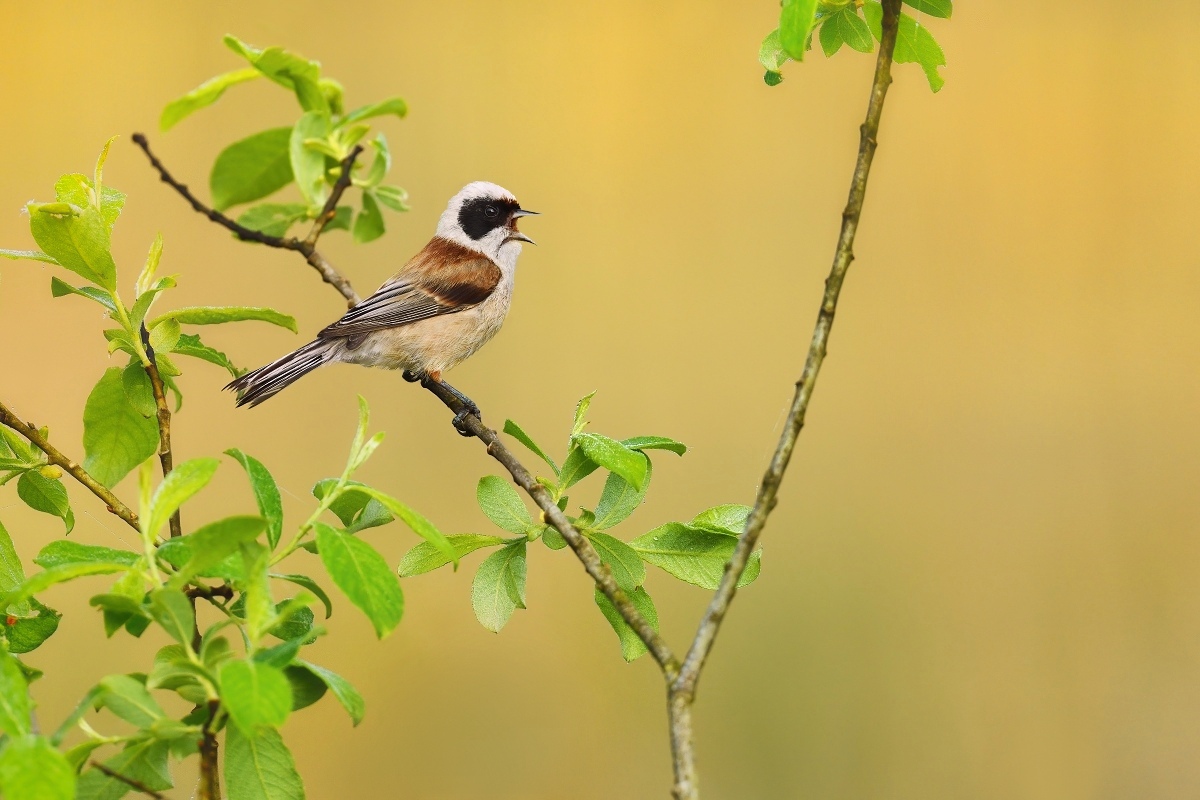
{"type": "MultiPolygon", "coordinates": [[[[431,380],[425,381],[424,385],[455,414],[466,410],[463,402],[446,389],[445,384],[431,380]]],[[[485,426],[478,416],[474,414],[463,415],[462,425],[473,437],[487,445],[487,455],[500,462],[504,469],[509,470],[509,475],[512,476],[516,485],[533,498],[533,501],[541,509],[542,518],[563,535],[563,539],[566,540],[566,543],[578,557],[580,561],[583,563],[583,569],[596,582],[596,588],[612,602],[620,613],[622,619],[634,628],[637,638],[646,644],[647,650],[650,651],[650,656],[659,663],[666,679],[668,681],[674,680],[679,672],[679,662],[676,660],[674,654],[671,652],[671,648],[667,646],[666,640],[659,636],[650,622],[642,616],[637,607],[630,602],[629,596],[617,585],[608,565],[600,560],[600,555],[592,547],[592,542],[575,529],[566,518],[566,515],[563,513],[563,510],[554,503],[550,492],[546,491],[546,487],[539,483],[517,457],[504,446],[504,443],[496,435],[496,431],[485,426]]]]}

